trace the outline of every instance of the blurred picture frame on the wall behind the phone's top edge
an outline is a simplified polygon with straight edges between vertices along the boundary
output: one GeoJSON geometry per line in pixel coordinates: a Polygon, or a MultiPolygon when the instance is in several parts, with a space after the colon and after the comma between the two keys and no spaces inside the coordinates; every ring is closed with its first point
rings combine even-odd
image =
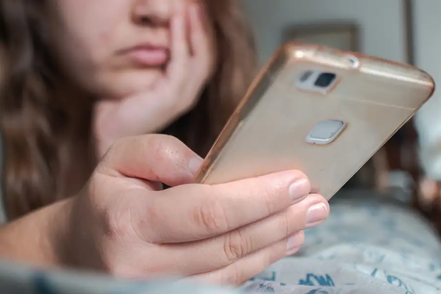
{"type": "Polygon", "coordinates": [[[293,25],[285,29],[283,43],[318,44],[345,51],[359,51],[359,27],[354,23],[293,25]]]}

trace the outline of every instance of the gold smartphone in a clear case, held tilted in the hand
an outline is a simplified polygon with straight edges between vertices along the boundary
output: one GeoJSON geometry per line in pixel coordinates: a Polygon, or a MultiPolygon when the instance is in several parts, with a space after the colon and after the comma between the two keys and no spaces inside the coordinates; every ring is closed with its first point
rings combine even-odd
{"type": "Polygon", "coordinates": [[[330,199],[434,88],[429,74],[409,65],[286,44],[252,82],[195,182],[300,170],[330,199]]]}

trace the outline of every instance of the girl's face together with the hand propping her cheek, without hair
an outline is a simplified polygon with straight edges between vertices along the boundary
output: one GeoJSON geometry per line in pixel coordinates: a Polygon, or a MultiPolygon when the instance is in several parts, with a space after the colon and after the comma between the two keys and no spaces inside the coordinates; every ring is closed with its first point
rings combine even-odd
{"type": "Polygon", "coordinates": [[[189,111],[215,67],[205,6],[194,0],[53,0],[53,51],[68,76],[98,93],[98,155],[124,136],[163,129],[189,111]],[[134,47],[161,57],[139,62],[134,47]],[[191,73],[191,74],[189,74],[191,73]]]}

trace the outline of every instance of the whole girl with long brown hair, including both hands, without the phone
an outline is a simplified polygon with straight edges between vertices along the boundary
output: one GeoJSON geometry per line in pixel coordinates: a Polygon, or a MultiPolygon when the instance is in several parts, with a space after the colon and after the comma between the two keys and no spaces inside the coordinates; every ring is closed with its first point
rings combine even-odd
{"type": "Polygon", "coordinates": [[[0,52],[4,258],[240,284],[328,216],[299,171],[191,184],[254,73],[236,0],[1,1],[0,52]]]}

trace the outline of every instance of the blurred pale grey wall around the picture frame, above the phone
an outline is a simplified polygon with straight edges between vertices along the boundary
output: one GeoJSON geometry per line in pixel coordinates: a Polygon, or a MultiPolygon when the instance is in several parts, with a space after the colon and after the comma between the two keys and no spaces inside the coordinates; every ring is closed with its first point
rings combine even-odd
{"type": "Polygon", "coordinates": [[[244,4],[262,61],[282,43],[286,28],[340,22],[359,25],[360,51],[406,59],[402,0],[245,0],[244,4]]]}

